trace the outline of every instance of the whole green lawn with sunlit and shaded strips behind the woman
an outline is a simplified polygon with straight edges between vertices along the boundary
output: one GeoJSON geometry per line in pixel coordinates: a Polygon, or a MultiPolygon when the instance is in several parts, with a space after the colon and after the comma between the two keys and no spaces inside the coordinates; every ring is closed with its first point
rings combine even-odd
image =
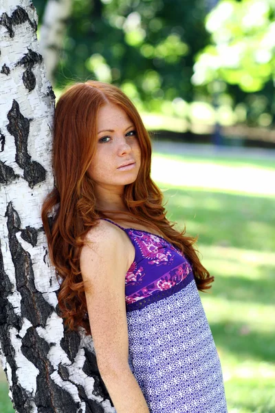
{"type": "MultiPolygon", "coordinates": [[[[275,162],[164,156],[152,176],[168,219],[199,234],[202,262],[215,276],[201,293],[225,381],[230,413],[275,412],[275,162]]],[[[1,375],[0,375],[1,378],[1,375]]],[[[0,412],[13,412],[0,383],[0,412]]]]}

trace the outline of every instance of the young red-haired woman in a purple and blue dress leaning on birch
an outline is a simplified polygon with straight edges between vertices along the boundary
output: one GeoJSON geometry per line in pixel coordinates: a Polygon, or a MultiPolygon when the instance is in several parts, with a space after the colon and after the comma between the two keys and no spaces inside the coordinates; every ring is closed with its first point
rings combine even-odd
{"type": "Polygon", "coordinates": [[[42,219],[63,279],[59,307],[68,328],[92,335],[116,412],[227,412],[198,293],[214,277],[195,239],[166,218],[131,100],[98,81],[69,87],[56,105],[53,167],[42,219]]]}

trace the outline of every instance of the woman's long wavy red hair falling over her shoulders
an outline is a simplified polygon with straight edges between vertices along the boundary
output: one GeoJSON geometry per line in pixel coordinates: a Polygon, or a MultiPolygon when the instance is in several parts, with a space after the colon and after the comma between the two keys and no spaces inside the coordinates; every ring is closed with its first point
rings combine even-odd
{"type": "Polygon", "coordinates": [[[46,196],[41,218],[47,236],[50,260],[61,278],[58,307],[69,330],[85,329],[91,335],[85,286],[80,271],[80,252],[85,235],[99,218],[122,220],[118,211],[96,207],[94,182],[87,173],[97,143],[98,110],[118,105],[132,120],[142,153],[135,182],[124,187],[124,204],[129,217],[163,235],[189,260],[199,290],[210,288],[214,277],[204,268],[193,244],[197,237],[173,228],[166,218],[164,196],[151,179],[151,140],[131,100],[109,83],[87,81],[69,86],[56,104],[54,115],[54,189],[46,196]]]}

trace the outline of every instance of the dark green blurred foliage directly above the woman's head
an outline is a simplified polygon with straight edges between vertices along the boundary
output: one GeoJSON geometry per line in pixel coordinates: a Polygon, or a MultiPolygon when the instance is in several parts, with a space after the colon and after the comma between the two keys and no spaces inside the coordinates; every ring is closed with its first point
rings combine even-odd
{"type": "MultiPolygon", "coordinates": [[[[41,23],[45,1],[34,5],[41,23]]],[[[203,0],[74,0],[56,87],[112,82],[149,112],[178,97],[190,102],[194,56],[209,42],[206,12],[203,0]]]]}

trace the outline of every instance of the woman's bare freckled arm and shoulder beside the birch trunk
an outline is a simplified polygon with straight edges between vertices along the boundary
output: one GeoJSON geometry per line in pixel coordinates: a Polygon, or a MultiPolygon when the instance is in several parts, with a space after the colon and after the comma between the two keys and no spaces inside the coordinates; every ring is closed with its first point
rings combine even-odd
{"type": "Polygon", "coordinates": [[[124,233],[100,222],[87,235],[80,269],[98,369],[117,413],[149,413],[129,367],[125,274],[129,267],[124,233]]]}

